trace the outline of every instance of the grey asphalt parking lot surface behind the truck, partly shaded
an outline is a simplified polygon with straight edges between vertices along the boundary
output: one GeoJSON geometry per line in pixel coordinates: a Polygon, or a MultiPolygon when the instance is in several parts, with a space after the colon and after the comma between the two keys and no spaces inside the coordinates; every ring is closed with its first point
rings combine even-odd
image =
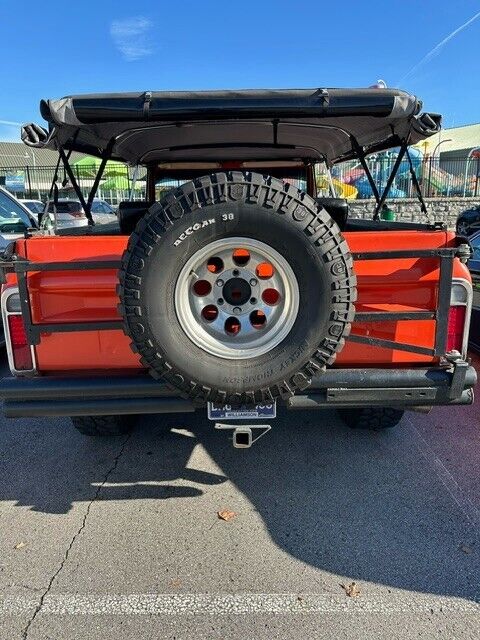
{"type": "Polygon", "coordinates": [[[2,639],[479,636],[478,404],[282,412],[250,450],[199,413],[1,419],[0,452],[2,639]]]}

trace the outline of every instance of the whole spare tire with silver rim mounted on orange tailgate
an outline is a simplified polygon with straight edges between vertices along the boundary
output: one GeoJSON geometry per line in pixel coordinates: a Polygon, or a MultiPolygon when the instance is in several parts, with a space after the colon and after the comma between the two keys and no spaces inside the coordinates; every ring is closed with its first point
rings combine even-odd
{"type": "Polygon", "coordinates": [[[125,332],[150,374],[203,403],[292,395],[354,316],[347,243],[328,213],[256,173],[197,178],[149,208],[120,270],[125,332]]]}

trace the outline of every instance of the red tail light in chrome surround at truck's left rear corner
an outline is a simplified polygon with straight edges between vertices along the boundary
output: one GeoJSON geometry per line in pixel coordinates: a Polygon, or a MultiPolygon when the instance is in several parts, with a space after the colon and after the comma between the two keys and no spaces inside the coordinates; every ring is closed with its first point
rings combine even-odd
{"type": "Polygon", "coordinates": [[[34,372],[34,352],[28,343],[17,289],[9,288],[3,292],[2,315],[10,370],[16,374],[34,372]]]}

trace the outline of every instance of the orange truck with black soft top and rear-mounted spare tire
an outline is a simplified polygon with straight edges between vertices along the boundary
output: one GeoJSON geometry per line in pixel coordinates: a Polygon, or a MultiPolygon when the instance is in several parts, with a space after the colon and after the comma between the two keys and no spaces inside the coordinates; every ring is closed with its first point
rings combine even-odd
{"type": "Polygon", "coordinates": [[[42,101],[48,127],[22,138],[59,152],[89,225],[26,229],[3,253],[6,416],[108,435],[139,414],[207,411],[248,447],[277,405],[382,429],[471,404],[468,242],[435,221],[380,219],[409,145],[440,128],[421,107],[377,88],[42,101]],[[380,193],[366,157],[393,147],[380,193]],[[101,159],[88,195],[71,151],[101,159]],[[146,169],[146,200],[95,225],[111,159],[146,169]],[[333,185],[317,197],[316,166],[349,159],[369,177],[371,219],[352,218],[333,185]]]}

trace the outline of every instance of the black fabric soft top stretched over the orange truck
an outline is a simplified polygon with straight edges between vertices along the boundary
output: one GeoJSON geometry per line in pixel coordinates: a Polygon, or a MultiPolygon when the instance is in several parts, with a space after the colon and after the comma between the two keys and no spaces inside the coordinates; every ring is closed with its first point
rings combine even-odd
{"type": "Polygon", "coordinates": [[[415,144],[441,117],[397,89],[145,91],[42,100],[48,131],[25,125],[32,147],[129,164],[326,160],[415,144]]]}

